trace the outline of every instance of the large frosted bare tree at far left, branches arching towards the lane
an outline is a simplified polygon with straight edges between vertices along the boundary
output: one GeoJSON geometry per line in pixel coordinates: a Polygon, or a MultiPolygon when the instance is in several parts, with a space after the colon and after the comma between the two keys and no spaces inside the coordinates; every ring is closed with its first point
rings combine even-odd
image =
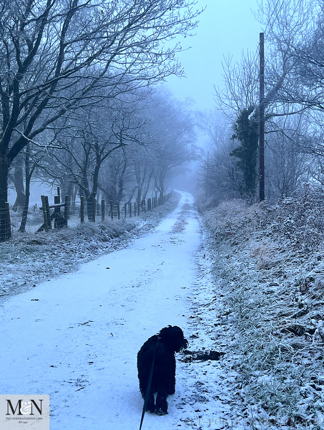
{"type": "MultiPolygon", "coordinates": [[[[0,9],[0,208],[9,166],[28,141],[61,116],[170,74],[182,74],[173,48],[199,11],[184,0],[20,0],[0,9]],[[119,88],[122,83],[122,89],[119,88]],[[73,96],[71,97],[71,93],[73,96]],[[68,97],[67,97],[68,96],[68,97]]],[[[3,224],[0,219],[0,229],[3,224]]]]}

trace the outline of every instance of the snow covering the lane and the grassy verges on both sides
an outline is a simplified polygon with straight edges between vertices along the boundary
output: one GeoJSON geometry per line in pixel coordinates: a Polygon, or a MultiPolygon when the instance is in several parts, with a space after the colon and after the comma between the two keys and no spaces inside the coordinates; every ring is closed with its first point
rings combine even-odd
{"type": "Polygon", "coordinates": [[[189,348],[176,355],[168,415],[146,413],[143,430],[323,428],[322,253],[265,239],[259,207],[226,203],[204,221],[181,192],[157,225],[163,210],[104,245],[99,238],[124,224],[44,234],[53,256],[31,249],[34,272],[26,260],[17,273],[21,256],[8,245],[12,278],[34,276],[36,286],[1,306],[2,393],[49,394],[51,430],[136,429],[137,353],[171,324],[189,348]],[[53,277],[66,234],[63,269],[77,269],[77,256],[87,262],[53,277]]]}

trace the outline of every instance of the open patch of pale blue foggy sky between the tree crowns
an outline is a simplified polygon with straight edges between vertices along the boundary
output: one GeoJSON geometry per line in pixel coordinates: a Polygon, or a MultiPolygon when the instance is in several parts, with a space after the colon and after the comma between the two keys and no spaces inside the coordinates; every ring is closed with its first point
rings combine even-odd
{"type": "Polygon", "coordinates": [[[239,61],[242,49],[255,52],[262,28],[251,12],[257,0],[198,0],[198,5],[207,7],[196,36],[181,40],[183,48],[192,48],[178,57],[187,77],[169,77],[167,83],[177,98],[193,98],[196,108],[204,110],[214,106],[214,84],[223,87],[223,55],[239,61]]]}

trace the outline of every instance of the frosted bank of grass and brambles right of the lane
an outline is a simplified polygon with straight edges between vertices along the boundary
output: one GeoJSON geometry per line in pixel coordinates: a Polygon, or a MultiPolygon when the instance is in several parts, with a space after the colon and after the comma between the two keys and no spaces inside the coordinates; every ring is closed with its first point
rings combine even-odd
{"type": "Polygon", "coordinates": [[[232,200],[204,211],[248,415],[281,418],[281,428],[324,428],[323,208],[323,194],[306,188],[277,206],[232,200]]]}

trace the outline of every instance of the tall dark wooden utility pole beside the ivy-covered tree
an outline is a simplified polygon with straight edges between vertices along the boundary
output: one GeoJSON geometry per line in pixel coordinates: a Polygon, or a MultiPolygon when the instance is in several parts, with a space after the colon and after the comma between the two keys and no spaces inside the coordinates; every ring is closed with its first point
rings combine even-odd
{"type": "Polygon", "coordinates": [[[260,33],[259,200],[264,200],[264,33],[260,33]]]}

